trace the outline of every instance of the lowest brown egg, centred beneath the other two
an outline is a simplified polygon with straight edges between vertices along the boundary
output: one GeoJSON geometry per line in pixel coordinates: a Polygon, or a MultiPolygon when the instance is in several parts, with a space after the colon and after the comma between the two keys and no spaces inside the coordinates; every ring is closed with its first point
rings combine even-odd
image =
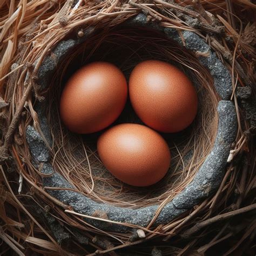
{"type": "Polygon", "coordinates": [[[113,176],[133,186],[149,186],[163,178],[171,154],[165,140],[147,126],[119,124],[98,139],[99,157],[113,176]]]}

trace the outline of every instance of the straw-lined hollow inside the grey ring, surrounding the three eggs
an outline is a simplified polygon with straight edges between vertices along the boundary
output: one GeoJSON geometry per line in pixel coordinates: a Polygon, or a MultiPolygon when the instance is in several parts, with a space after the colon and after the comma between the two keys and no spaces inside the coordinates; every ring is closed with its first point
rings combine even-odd
{"type": "MultiPolygon", "coordinates": [[[[97,31],[60,63],[46,95],[55,171],[62,174],[77,191],[115,206],[139,208],[173,199],[190,183],[203,164],[217,132],[219,97],[210,72],[199,63],[194,53],[157,30],[117,26],[97,31]],[[80,66],[93,61],[111,62],[124,72],[128,81],[134,66],[146,59],[164,60],[183,70],[197,89],[199,110],[193,124],[184,131],[162,134],[172,154],[166,176],[150,187],[137,188],[121,183],[100,162],[96,142],[101,132],[79,136],[65,129],[59,119],[58,103],[66,80],[80,66]]],[[[118,123],[142,123],[129,100],[113,125],[118,123]]]]}

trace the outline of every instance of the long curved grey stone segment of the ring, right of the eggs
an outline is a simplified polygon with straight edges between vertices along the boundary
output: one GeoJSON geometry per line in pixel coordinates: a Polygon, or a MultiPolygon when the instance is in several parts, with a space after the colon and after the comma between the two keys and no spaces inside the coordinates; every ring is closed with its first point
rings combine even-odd
{"type": "Polygon", "coordinates": [[[219,125],[211,153],[207,156],[193,181],[173,199],[177,208],[191,208],[209,196],[220,185],[225,173],[228,154],[237,133],[235,107],[230,100],[218,105],[219,125]]]}

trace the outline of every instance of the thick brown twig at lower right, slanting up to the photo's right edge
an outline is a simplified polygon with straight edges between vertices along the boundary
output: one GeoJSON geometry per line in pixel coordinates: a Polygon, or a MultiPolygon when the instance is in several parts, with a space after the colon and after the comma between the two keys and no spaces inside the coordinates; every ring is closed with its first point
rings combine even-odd
{"type": "Polygon", "coordinates": [[[243,207],[241,209],[232,211],[232,212],[227,212],[224,214],[220,214],[217,215],[211,219],[207,219],[205,221],[202,221],[201,223],[197,223],[196,225],[194,225],[193,227],[191,227],[189,230],[187,230],[186,232],[184,232],[183,234],[181,234],[181,237],[183,238],[189,238],[191,237],[194,233],[198,232],[199,230],[201,230],[201,228],[206,227],[208,225],[211,225],[217,221],[221,221],[221,220],[225,220],[231,217],[234,217],[235,215],[241,214],[241,213],[245,213],[245,212],[249,212],[249,211],[253,211],[256,209],[256,203],[243,207]]]}

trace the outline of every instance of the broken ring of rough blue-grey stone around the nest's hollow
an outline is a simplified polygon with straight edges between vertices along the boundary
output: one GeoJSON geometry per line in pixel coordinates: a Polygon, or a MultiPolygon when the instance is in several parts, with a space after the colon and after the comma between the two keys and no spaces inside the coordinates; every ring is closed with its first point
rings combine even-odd
{"type": "MultiPolygon", "coordinates": [[[[130,21],[130,25],[146,26],[147,21],[145,18],[145,15],[140,14],[130,21]]],[[[155,26],[156,28],[156,26],[159,25],[150,24],[150,26],[155,26]]],[[[171,35],[173,38],[176,38],[176,41],[179,41],[177,37],[178,33],[170,30],[166,31],[167,30],[165,29],[166,35],[171,35]]],[[[211,70],[214,81],[218,82],[215,86],[221,97],[228,98],[230,95],[230,75],[229,73],[226,73],[227,70],[225,66],[219,62],[215,53],[212,53],[209,46],[196,34],[185,31],[183,35],[188,49],[192,51],[210,51],[210,57],[207,59],[202,58],[200,61],[211,70]]],[[[48,86],[49,79],[51,79],[51,76],[55,71],[56,63],[62,60],[78,42],[80,43],[84,39],[85,38],[77,39],[76,41],[73,39],[62,41],[56,46],[56,49],[53,50],[54,54],[45,58],[38,74],[38,84],[41,86],[42,90],[48,86]]],[[[36,109],[41,122],[41,130],[49,144],[51,144],[51,137],[46,122],[45,107],[43,103],[38,103],[36,109]]],[[[218,113],[218,134],[212,152],[208,155],[191,184],[189,184],[185,190],[178,194],[170,203],[165,205],[156,220],[156,225],[169,223],[172,219],[198,204],[200,200],[203,200],[218,188],[223,178],[231,144],[237,132],[237,118],[233,103],[228,100],[221,100],[218,106],[218,113]]],[[[147,226],[156,213],[158,206],[143,207],[137,210],[114,207],[108,204],[97,203],[81,193],[65,190],[65,188],[72,188],[71,184],[69,184],[63,176],[53,170],[53,167],[50,164],[50,152],[48,147],[46,147],[42,137],[32,126],[28,126],[26,129],[26,139],[31,155],[36,162],[35,166],[37,167],[38,164],[42,164],[41,172],[52,174],[49,177],[42,178],[43,185],[63,188],[63,190],[48,190],[48,193],[66,205],[70,205],[74,211],[92,216],[102,214],[105,215],[107,219],[113,221],[141,226],[147,226]]],[[[128,227],[118,224],[110,224],[104,221],[87,218],[86,221],[99,228],[103,228],[104,230],[116,232],[127,232],[130,230],[128,227]]]]}

